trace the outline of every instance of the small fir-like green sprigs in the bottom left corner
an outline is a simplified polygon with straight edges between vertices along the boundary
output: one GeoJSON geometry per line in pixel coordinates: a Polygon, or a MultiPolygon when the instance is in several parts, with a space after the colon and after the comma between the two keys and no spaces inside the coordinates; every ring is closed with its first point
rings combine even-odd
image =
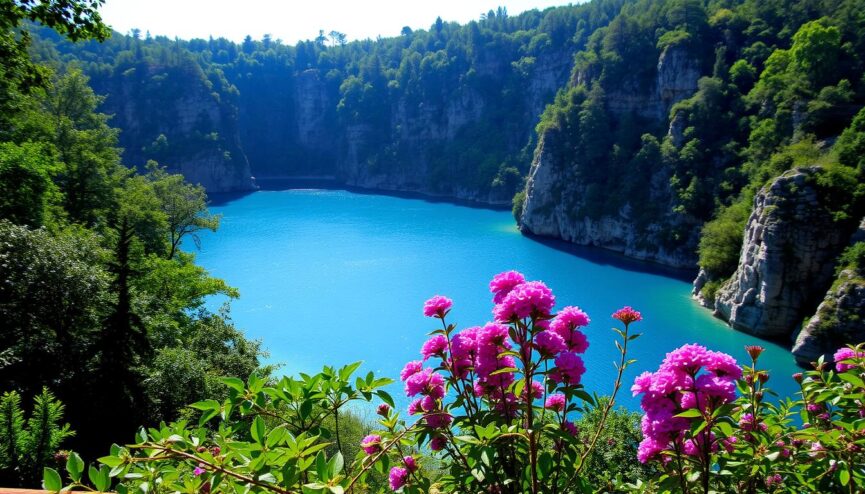
{"type": "Polygon", "coordinates": [[[33,398],[25,420],[21,396],[5,392],[0,398],[0,482],[5,486],[35,485],[42,469],[54,462],[60,444],[74,435],[63,421],[63,404],[43,388],[33,398]]]}

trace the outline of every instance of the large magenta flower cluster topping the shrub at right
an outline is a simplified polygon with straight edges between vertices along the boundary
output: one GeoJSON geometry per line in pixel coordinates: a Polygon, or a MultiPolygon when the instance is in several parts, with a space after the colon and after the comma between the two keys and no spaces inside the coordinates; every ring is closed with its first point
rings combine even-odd
{"type": "Polygon", "coordinates": [[[717,448],[713,437],[705,434],[697,441],[683,441],[690,421],[677,414],[697,408],[711,412],[736,398],[736,380],[742,369],[736,360],[721,352],[707,350],[700,345],[684,345],[668,353],[657,372],[644,372],[637,376],[631,391],[642,394],[641,407],[643,441],[637,458],[645,463],[671,443],[686,453],[704,448],[707,439],[717,448]]]}

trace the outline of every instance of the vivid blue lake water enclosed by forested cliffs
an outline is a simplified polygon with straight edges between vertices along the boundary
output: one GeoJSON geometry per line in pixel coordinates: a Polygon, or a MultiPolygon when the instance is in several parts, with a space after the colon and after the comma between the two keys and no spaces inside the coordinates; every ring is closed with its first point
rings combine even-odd
{"type": "Polygon", "coordinates": [[[628,391],[633,377],[685,343],[740,362],[748,358],[744,345],[760,344],[772,387],[795,388],[787,349],[729,329],[691,299],[687,281],[612,254],[575,254],[527,238],[509,212],[333,190],[261,191],[212,210],[223,215],[222,226],[202,238],[198,260],[240,290],[232,318],[263,340],[269,361],[286,374],[363,360],[362,369],[398,378],[436,328],[421,312],[427,298],[452,298],[451,321],[480,325],[491,318],[490,278],[516,269],[546,282],[557,307],[577,305],[592,318],[584,357],[590,390],[608,393],[615,375],[610,314],[623,305],[642,311],[634,327],[644,336],[630,353],[638,362],[620,400],[631,408],[638,406],[628,391]]]}

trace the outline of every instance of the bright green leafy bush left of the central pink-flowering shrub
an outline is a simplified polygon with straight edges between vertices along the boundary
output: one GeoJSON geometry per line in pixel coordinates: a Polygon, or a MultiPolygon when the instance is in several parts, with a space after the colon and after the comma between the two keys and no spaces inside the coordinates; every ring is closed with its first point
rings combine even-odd
{"type": "MultiPolygon", "coordinates": [[[[348,408],[373,396],[391,401],[379,388],[392,381],[372,373],[355,378],[359,365],[270,382],[256,374],[246,382],[224,378],[224,401],[191,405],[200,411],[198,425],[179,421],[141,429],[133,444],[113,446],[99,459],[99,469],[91,467],[89,482],[76,475],[83,465],[67,463],[70,487],[92,483],[126,493],[152,484],[180,492],[250,486],[263,492],[340,493],[368,486],[372,464],[363,454],[352,461],[343,453],[357,451],[363,429],[348,408]],[[343,425],[337,426],[340,420],[343,425]],[[344,440],[353,445],[343,449],[344,440]]],[[[46,469],[46,486],[57,488],[58,479],[56,470],[46,469]]]]}

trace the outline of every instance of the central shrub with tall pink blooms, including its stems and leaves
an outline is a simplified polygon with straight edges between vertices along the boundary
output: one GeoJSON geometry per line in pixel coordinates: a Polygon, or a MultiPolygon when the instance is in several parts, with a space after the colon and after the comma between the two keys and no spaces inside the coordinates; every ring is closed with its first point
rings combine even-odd
{"type": "Polygon", "coordinates": [[[421,359],[400,373],[413,420],[389,410],[376,436],[382,449],[361,464],[389,468],[394,490],[428,492],[430,476],[404,455],[409,445],[442,460],[444,475],[435,481],[441,492],[591,490],[582,470],[632,363],[627,345],[639,335],[629,326],[640,313],[626,307],[613,314],[623,324],[616,330],[621,361],[611,399],[599,404],[581,384],[588,315],[578,307],[553,312],[552,291],[515,271],[495,276],[490,292],[493,322],[463,330],[448,322],[450,299],[437,295],[424,304],[424,315],[441,327],[422,345],[421,359]],[[581,435],[574,421],[590,411],[597,417],[592,434],[581,435]]]}

